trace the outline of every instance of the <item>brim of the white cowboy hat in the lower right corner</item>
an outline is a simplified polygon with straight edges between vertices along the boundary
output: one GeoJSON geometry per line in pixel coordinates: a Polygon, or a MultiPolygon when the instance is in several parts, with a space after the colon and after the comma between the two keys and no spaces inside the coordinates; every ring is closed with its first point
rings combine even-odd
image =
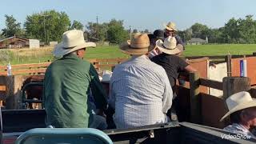
{"type": "Polygon", "coordinates": [[[235,106],[233,109],[231,109],[229,112],[227,112],[221,119],[220,122],[222,122],[225,118],[227,118],[228,116],[230,116],[230,114],[233,114],[234,112],[238,111],[238,110],[244,110],[246,108],[250,108],[250,107],[255,107],[256,106],[256,99],[253,98],[252,101],[250,102],[245,102],[242,103],[238,106],[235,106]]]}

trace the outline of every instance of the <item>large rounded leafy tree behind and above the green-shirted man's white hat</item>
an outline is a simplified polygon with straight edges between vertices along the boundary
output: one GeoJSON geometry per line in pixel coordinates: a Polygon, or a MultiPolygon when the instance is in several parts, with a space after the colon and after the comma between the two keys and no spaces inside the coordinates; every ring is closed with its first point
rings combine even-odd
{"type": "Polygon", "coordinates": [[[28,15],[24,27],[27,38],[36,38],[44,42],[46,36],[46,42],[60,42],[62,34],[69,30],[70,18],[65,12],[43,11],[38,14],[28,15]]]}

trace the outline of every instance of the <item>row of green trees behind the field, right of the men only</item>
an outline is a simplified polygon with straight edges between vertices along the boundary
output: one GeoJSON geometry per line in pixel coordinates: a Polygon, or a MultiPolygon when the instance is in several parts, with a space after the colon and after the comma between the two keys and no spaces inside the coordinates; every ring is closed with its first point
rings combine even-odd
{"type": "Polygon", "coordinates": [[[186,41],[190,38],[208,38],[209,43],[256,43],[256,21],[253,15],[246,18],[231,18],[225,26],[211,29],[206,25],[195,23],[189,29],[178,31],[186,41]]]}

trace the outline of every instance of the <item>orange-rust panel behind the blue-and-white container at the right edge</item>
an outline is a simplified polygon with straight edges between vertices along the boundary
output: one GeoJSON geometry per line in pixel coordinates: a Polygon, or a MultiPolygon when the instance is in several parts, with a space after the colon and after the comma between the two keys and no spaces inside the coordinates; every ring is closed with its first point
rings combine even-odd
{"type": "MultiPolygon", "coordinates": [[[[231,59],[231,76],[240,76],[240,60],[245,58],[231,59]]],[[[246,58],[247,61],[247,77],[250,78],[250,85],[256,84],[256,57],[246,58]]]]}

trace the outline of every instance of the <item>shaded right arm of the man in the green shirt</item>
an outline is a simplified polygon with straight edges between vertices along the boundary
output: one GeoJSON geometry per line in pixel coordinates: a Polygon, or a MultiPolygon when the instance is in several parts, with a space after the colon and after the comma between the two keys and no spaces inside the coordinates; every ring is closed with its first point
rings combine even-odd
{"type": "MultiPolygon", "coordinates": [[[[90,88],[94,95],[94,101],[96,109],[99,110],[99,113],[103,113],[103,110],[106,110],[107,100],[106,92],[102,87],[102,83],[99,81],[98,73],[94,69],[94,66],[90,64],[90,88]]],[[[101,114],[98,114],[101,115],[101,114]]]]}

